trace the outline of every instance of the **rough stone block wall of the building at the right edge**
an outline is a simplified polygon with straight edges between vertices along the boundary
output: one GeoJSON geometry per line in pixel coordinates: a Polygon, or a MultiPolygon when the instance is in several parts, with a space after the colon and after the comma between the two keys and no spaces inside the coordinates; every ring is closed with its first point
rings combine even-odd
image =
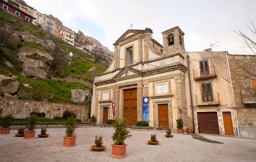
{"type": "MultiPolygon", "coordinates": [[[[256,55],[229,55],[230,73],[237,105],[237,119],[241,137],[256,137],[256,104],[242,103],[240,90],[253,88],[252,79],[244,77],[248,72],[256,76],[256,55]],[[243,68],[244,67],[244,68],[243,68]]],[[[253,77],[250,76],[250,77],[253,77]]]]}

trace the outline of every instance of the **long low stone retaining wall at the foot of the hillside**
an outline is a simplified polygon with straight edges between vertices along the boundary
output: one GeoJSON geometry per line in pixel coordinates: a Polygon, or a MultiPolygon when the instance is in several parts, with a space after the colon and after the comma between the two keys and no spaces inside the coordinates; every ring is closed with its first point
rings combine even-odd
{"type": "Polygon", "coordinates": [[[69,109],[76,112],[77,118],[82,119],[84,122],[88,122],[89,118],[89,107],[81,105],[0,99],[0,108],[3,109],[1,117],[8,113],[12,113],[14,118],[27,118],[29,117],[30,112],[45,112],[46,118],[53,118],[55,116],[62,116],[62,113],[66,109],[69,109]]]}

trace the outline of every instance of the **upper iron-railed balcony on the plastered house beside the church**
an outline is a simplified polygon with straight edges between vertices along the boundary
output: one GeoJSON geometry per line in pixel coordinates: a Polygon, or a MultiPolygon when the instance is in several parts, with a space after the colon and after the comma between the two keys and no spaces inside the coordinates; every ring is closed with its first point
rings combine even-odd
{"type": "Polygon", "coordinates": [[[215,66],[210,66],[208,69],[192,69],[192,71],[195,81],[217,77],[215,66]]]}

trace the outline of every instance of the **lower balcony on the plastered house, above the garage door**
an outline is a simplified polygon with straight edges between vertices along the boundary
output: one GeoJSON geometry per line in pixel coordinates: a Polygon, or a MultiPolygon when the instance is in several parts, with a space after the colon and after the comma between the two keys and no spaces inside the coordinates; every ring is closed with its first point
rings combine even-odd
{"type": "Polygon", "coordinates": [[[195,100],[197,106],[218,106],[219,103],[219,93],[214,93],[212,95],[195,94],[195,100]]]}

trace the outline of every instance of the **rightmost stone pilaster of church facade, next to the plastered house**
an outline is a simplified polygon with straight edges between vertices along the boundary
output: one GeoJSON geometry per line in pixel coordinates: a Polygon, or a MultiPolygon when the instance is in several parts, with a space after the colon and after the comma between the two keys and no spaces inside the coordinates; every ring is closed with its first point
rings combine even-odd
{"type": "Polygon", "coordinates": [[[175,86],[176,86],[176,100],[177,100],[177,109],[179,106],[182,106],[182,113],[178,112],[179,118],[183,119],[184,126],[187,125],[187,107],[186,107],[186,89],[185,81],[182,76],[174,77],[175,86]]]}

